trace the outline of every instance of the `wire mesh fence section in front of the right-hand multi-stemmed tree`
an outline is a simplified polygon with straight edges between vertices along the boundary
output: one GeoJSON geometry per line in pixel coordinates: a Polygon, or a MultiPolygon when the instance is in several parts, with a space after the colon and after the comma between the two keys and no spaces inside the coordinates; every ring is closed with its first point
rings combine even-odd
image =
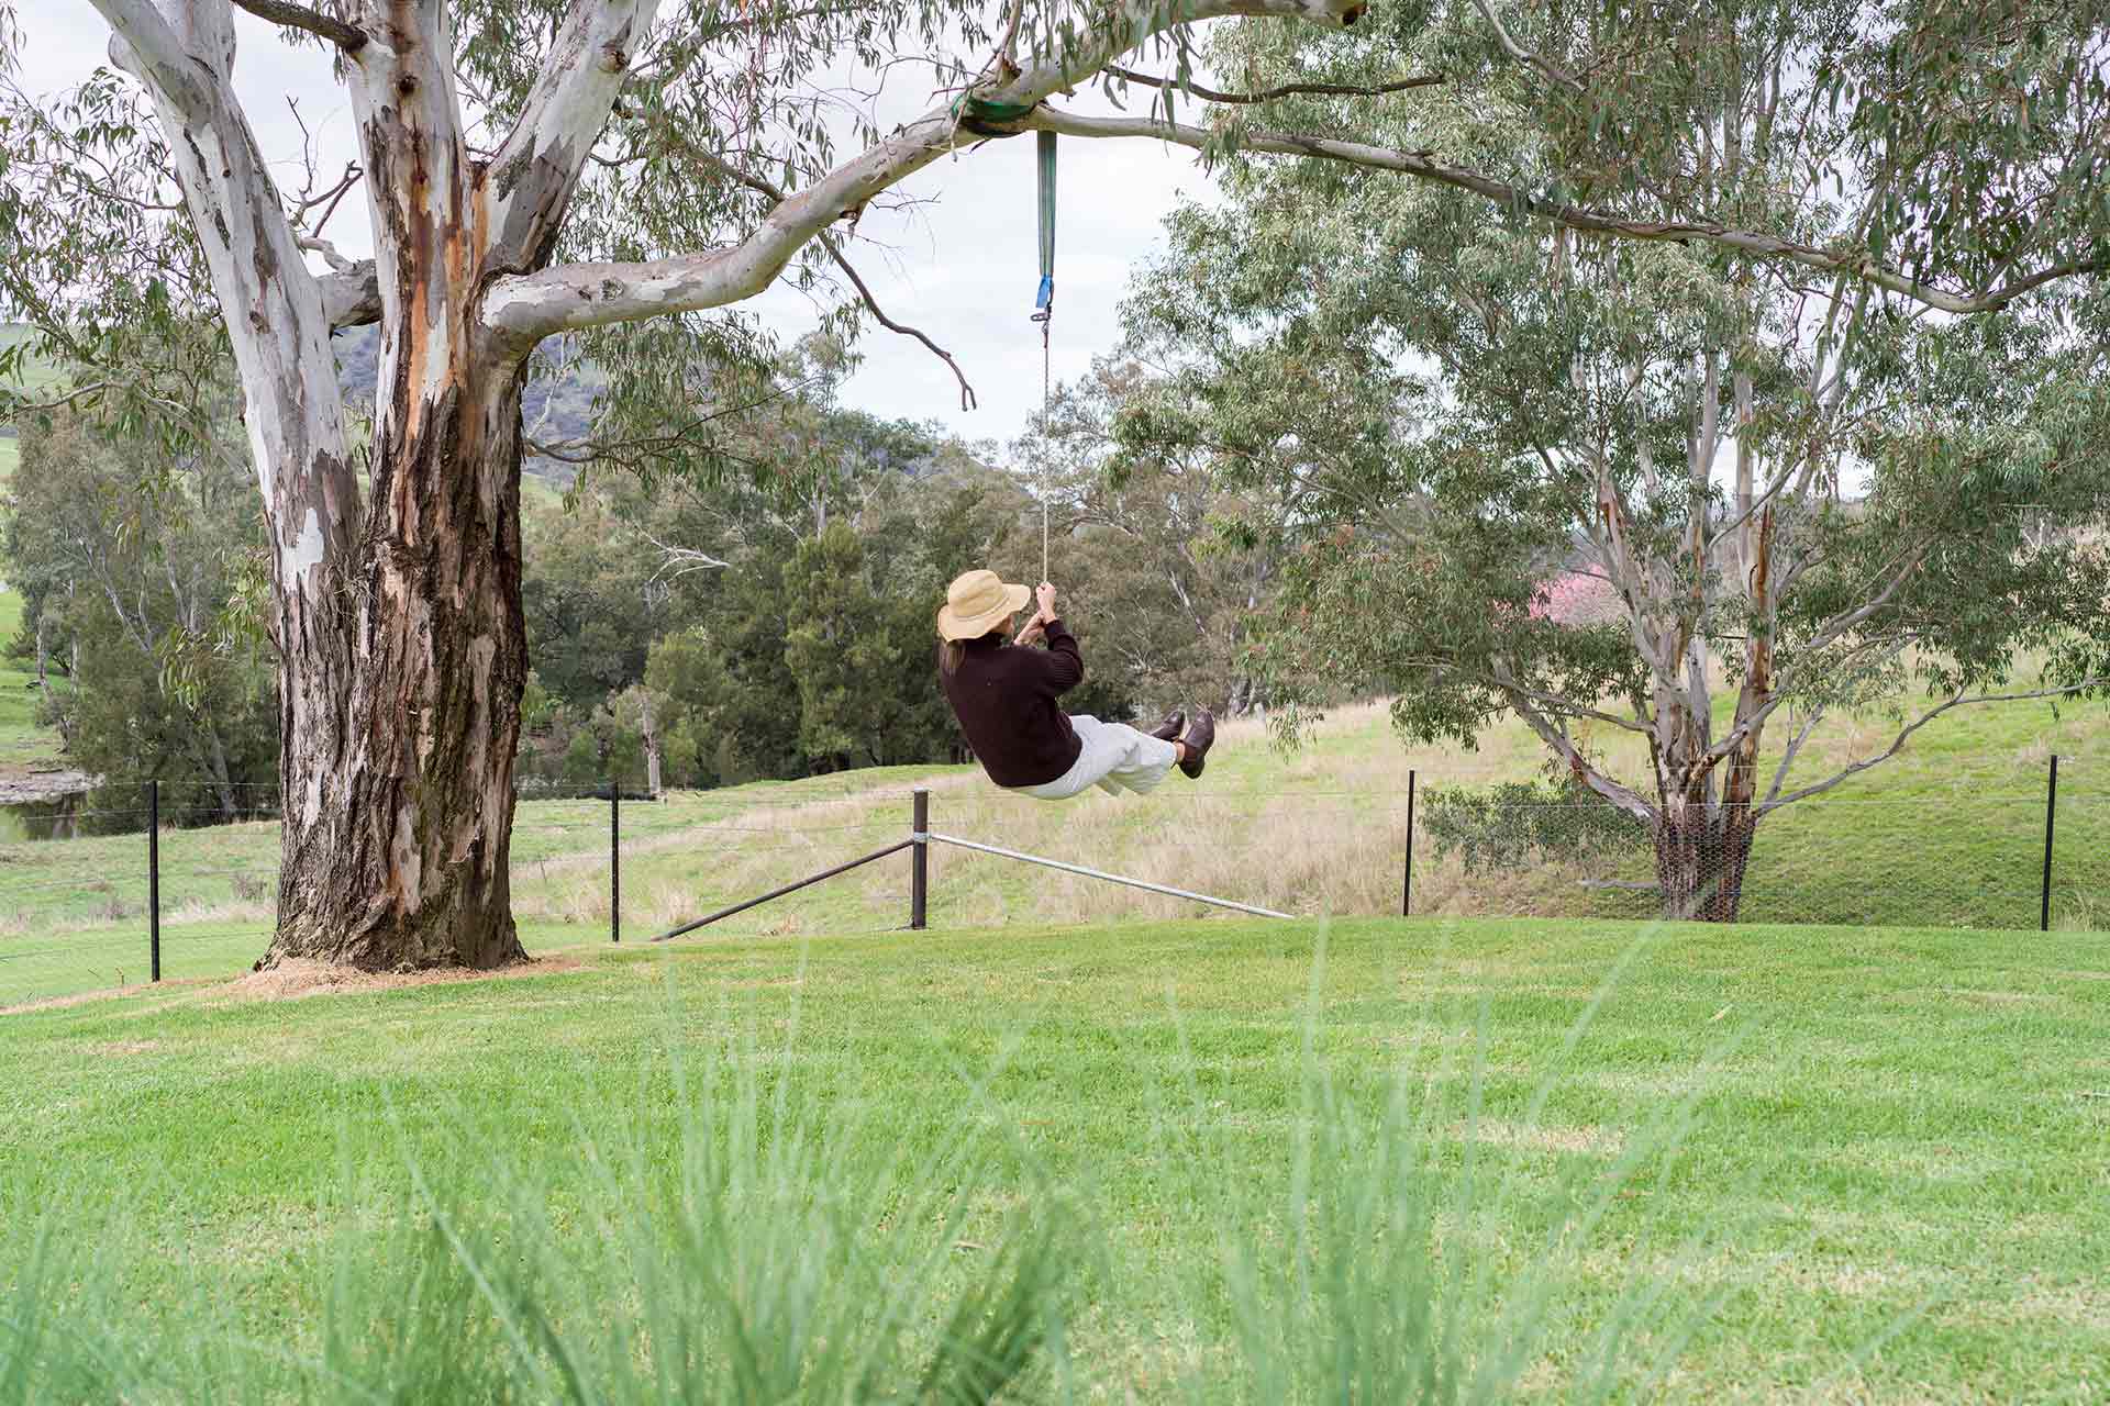
{"type": "Polygon", "coordinates": [[[2110,927],[2110,795],[2066,761],[1838,788],[1777,809],[1644,822],[1538,786],[1428,788],[1414,837],[1420,913],[1739,923],[2110,927]],[[1901,795],[1903,793],[1903,795],[1901,795]]]}

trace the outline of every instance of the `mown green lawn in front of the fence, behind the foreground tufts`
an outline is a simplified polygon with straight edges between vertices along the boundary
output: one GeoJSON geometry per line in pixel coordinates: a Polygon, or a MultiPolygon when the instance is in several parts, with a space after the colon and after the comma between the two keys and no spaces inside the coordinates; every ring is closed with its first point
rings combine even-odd
{"type": "MultiPolygon", "coordinates": [[[[1272,1395],[1255,1343],[1340,1324],[1287,1271],[1279,1303],[1262,1294],[1279,1313],[1241,1317],[1226,1267],[1304,1263],[1306,1237],[1346,1275],[1310,1292],[1348,1284],[1355,1313],[1424,1265],[1483,1286],[1458,1298],[1469,1341],[1542,1292],[1517,1395],[1566,1400],[1608,1322],[1631,1322],[1629,1372],[1671,1353],[1618,1391],[1648,1400],[2110,1389],[2102,936],[1418,919],[1323,940],[1321,965],[1308,921],[738,938],[578,951],[513,980],[298,1001],[192,984],[13,1014],[0,1290],[40,1206],[93,1252],[65,1282],[114,1277],[156,1358],[319,1353],[333,1233],[357,1227],[354,1261],[382,1265],[390,1225],[437,1214],[416,1180],[454,1189],[449,1225],[483,1225],[492,1263],[525,1254],[509,1227],[532,1225],[536,1254],[587,1265],[565,1303],[597,1303],[591,1332],[627,1345],[648,1307],[629,1261],[597,1256],[641,1214],[627,1178],[663,1168],[610,1168],[675,1147],[684,1117],[715,1126],[724,1105],[698,1100],[732,1050],[776,1126],[806,1109],[833,1130],[806,1149],[814,1185],[964,1136],[958,1225],[852,1218],[958,1277],[1040,1216],[1085,1400],[1272,1395]],[[1395,1096],[1437,1212],[1327,1252],[1306,1214],[1390,1185],[1372,1130],[1395,1096]]],[[[768,1227],[812,1208],[736,1210],[768,1227]]],[[[762,1271],[726,1292],[779,1288],[762,1271]]],[[[1336,1349],[1384,1358],[1310,1355],[1336,1349]]],[[[1329,1370],[1298,1393],[1323,1400],[1329,1370]]]]}

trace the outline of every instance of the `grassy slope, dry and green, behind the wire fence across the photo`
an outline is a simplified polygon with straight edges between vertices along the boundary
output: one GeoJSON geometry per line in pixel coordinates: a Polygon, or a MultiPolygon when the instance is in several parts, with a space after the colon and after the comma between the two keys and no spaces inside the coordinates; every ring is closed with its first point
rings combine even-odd
{"type": "MultiPolygon", "coordinates": [[[[1810,753],[1865,755],[1874,723],[1836,727],[1810,753]]],[[[2061,765],[2055,923],[2104,927],[2110,900],[2110,725],[2104,704],[1952,715],[1897,761],[1836,797],[1789,807],[1760,833],[1753,919],[2034,927],[2042,864],[2042,765],[2061,765]]],[[[1382,712],[1344,710],[1283,757],[1251,727],[1228,731],[1201,784],[1171,778],[1137,801],[1066,805],[1002,795],[966,769],[855,772],[789,784],[679,793],[625,805],[622,909],[631,940],[749,898],[907,833],[907,793],[928,780],[941,833],[1051,854],[1298,913],[1374,915],[1399,902],[1405,780],[1479,784],[1530,776],[1513,727],[1479,753],[1399,748],[1382,712]]],[[[608,932],[608,807],[525,801],[515,835],[515,911],[530,946],[608,932]]],[[[135,982],[146,972],[143,839],[0,845],[0,1001],[135,982]]],[[[162,837],[165,972],[247,968],[270,932],[274,824],[162,837]]],[[[1591,894],[1564,873],[1464,875],[1418,850],[1416,913],[1637,917],[1646,898],[1591,894]]],[[[1182,917],[1194,904],[1091,879],[937,850],[931,919],[941,927],[1182,917]]],[[[728,921],[749,934],[842,934],[907,917],[895,858],[728,921]]]]}

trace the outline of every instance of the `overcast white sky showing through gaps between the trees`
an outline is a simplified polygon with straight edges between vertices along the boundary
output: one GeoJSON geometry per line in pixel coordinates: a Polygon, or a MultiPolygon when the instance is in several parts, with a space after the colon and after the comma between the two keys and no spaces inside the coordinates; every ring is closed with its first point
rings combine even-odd
{"type": "MultiPolygon", "coordinates": [[[[78,84],[106,61],[108,27],[87,0],[17,0],[23,27],[21,86],[44,95],[78,84]]],[[[241,27],[234,86],[257,131],[264,156],[285,162],[300,183],[300,129],[287,97],[325,143],[325,169],[352,156],[350,110],[314,46],[289,48],[270,25],[236,15],[241,27]]],[[[899,70],[907,72],[907,70],[899,70]]],[[[897,80],[884,116],[920,112],[928,93],[897,80]]],[[[1072,105],[1093,110],[1080,95],[1072,105]]],[[[1158,245],[1158,221],[1182,192],[1201,192],[1207,175],[1194,154],[1150,141],[1066,141],[1061,213],[1055,242],[1055,377],[1072,379],[1112,350],[1129,270],[1158,245]]],[[[1032,314],[1040,282],[1034,143],[1030,137],[983,145],[943,160],[907,181],[903,194],[928,198],[914,217],[869,211],[857,266],[880,306],[931,333],[966,371],[981,401],[960,411],[952,373],[912,339],[871,329],[865,365],[844,398],[878,415],[939,419],[968,438],[1009,441],[1040,403],[1040,333],[1032,314]],[[869,240],[880,240],[876,247],[869,240]]],[[[361,211],[346,207],[329,234],[346,253],[369,253],[361,211]]],[[[814,325],[812,304],[776,287],[751,308],[785,335],[814,325]]]]}

